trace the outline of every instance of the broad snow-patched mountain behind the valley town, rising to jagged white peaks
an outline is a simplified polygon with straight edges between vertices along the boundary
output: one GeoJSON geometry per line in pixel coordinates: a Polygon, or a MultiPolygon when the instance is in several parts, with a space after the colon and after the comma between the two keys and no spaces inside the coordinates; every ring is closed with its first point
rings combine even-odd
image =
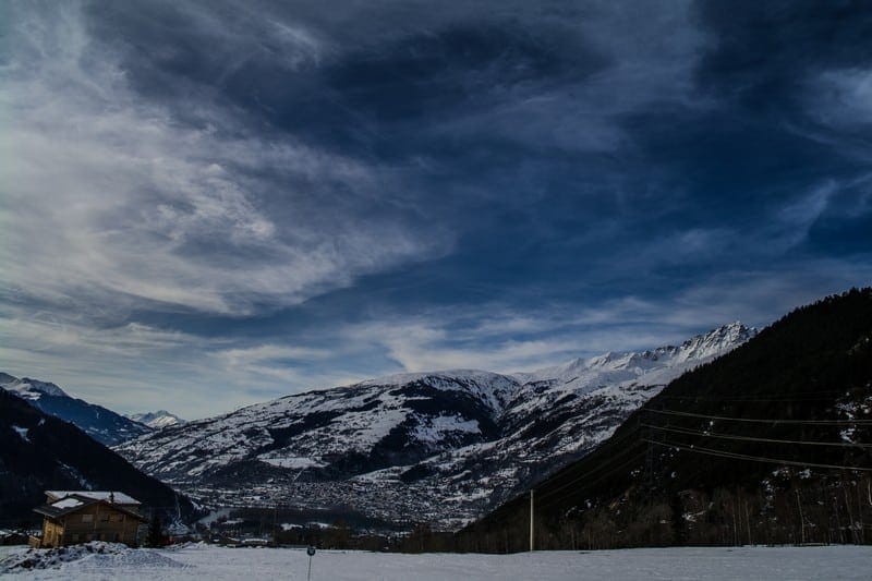
{"type": "Polygon", "coordinates": [[[288,396],[116,449],[207,503],[350,506],[450,528],[580,458],[685,371],[755,334],[532,373],[403,374],[288,396]]]}

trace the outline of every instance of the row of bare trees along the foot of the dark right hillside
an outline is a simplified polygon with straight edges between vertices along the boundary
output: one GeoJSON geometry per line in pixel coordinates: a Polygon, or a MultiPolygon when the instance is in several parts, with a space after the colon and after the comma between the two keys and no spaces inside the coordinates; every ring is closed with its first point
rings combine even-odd
{"type": "MultiPolygon", "coordinates": [[[[687,489],[655,498],[632,491],[604,506],[536,522],[535,548],[872,544],[872,477],[818,477],[782,469],[773,481],[755,491],[687,489]]],[[[528,550],[529,528],[529,515],[518,510],[498,530],[461,532],[456,548],[528,550]]]]}

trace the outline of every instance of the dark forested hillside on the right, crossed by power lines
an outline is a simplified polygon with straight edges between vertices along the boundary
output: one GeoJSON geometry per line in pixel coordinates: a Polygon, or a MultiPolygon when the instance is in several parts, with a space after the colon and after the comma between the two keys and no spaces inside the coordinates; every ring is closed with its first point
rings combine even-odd
{"type": "MultiPolygon", "coordinates": [[[[537,548],[872,542],[872,290],[796,310],[535,486],[537,548]]],[[[461,548],[528,548],[529,495],[461,548]]]]}

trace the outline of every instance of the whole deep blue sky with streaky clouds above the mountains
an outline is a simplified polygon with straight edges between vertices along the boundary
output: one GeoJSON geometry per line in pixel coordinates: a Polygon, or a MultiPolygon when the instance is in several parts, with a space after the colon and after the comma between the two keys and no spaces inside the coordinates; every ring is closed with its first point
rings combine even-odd
{"type": "Polygon", "coordinates": [[[0,370],[193,419],[872,283],[872,5],[0,0],[0,370]]]}

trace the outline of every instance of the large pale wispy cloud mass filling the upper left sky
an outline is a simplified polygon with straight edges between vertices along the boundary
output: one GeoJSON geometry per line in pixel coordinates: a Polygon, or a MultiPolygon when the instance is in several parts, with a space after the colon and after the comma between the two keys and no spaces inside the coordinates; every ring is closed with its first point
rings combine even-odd
{"type": "Polygon", "coordinates": [[[0,88],[8,286],[52,301],[242,314],[450,244],[390,216],[356,222],[380,184],[367,167],[252,134],[215,102],[189,106],[197,125],[143,101],[72,4],[29,16],[10,35],[20,48],[0,88]],[[286,179],[279,192],[276,174],[286,179]],[[337,187],[344,207],[308,202],[337,187]],[[277,221],[270,198],[299,211],[277,221]]]}

